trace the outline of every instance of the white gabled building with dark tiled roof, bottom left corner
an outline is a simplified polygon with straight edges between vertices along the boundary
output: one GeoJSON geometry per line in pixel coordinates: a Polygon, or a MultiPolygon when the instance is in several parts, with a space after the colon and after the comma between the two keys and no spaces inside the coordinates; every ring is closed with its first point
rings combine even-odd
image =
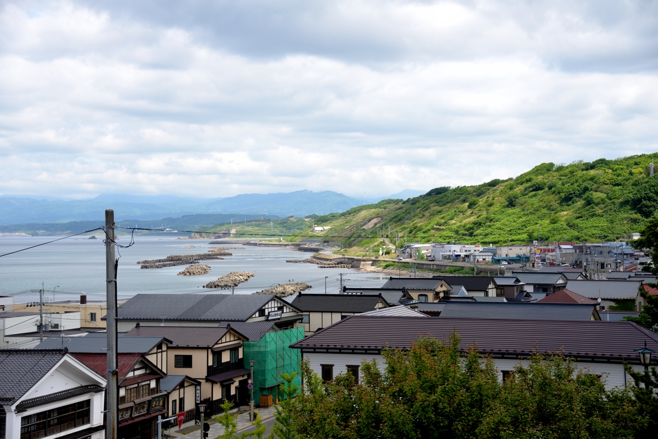
{"type": "Polygon", "coordinates": [[[0,438],[105,438],[105,378],[66,349],[0,350],[0,438]]]}

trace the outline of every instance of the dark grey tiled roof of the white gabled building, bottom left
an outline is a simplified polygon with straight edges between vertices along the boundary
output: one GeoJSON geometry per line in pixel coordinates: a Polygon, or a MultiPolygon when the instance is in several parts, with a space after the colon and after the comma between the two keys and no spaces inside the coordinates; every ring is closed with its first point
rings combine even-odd
{"type": "Polygon", "coordinates": [[[0,349],[0,405],[13,405],[64,355],[66,349],[0,349]]]}

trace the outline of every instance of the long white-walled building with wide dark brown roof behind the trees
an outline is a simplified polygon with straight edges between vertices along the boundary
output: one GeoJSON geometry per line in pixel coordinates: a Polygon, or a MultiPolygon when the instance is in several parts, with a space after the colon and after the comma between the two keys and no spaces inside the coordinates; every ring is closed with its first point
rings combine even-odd
{"type": "MultiPolygon", "coordinates": [[[[436,305],[428,303],[428,305],[436,305]]],[[[504,305],[512,305],[505,303],[504,305]]],[[[517,307],[542,307],[520,304],[517,307]]],[[[560,306],[560,305],[557,305],[560,306]]],[[[575,306],[580,305],[562,305],[575,306]]],[[[605,376],[608,389],[623,386],[630,377],[624,373],[624,363],[642,371],[636,349],[646,343],[658,351],[658,334],[632,322],[589,320],[531,320],[531,319],[461,319],[439,317],[368,317],[355,315],[293,344],[300,349],[311,369],[323,380],[332,380],[348,370],[361,378],[363,361],[376,360],[384,370],[386,361],[382,350],[409,349],[418,337],[426,335],[438,339],[449,338],[457,332],[461,338],[460,351],[465,355],[475,346],[482,355],[490,355],[498,371],[499,380],[528,357],[538,351],[544,354],[562,352],[574,359],[576,367],[588,373],[605,376]]],[[[658,365],[652,357],[651,363],[658,365]]]]}

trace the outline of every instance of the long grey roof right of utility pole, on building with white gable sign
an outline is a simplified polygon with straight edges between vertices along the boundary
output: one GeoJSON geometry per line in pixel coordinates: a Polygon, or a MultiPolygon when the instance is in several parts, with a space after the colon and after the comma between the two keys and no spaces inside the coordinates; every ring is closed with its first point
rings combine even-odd
{"type": "Polygon", "coordinates": [[[138,294],[118,309],[119,320],[246,321],[273,294],[138,294]]]}

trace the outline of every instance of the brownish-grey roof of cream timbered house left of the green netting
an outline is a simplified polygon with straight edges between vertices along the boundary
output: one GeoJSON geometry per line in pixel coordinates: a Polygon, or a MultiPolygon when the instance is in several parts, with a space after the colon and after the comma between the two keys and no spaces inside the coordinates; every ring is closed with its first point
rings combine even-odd
{"type": "Polygon", "coordinates": [[[218,326],[136,326],[124,338],[166,337],[172,348],[212,348],[226,332],[218,326]]]}

